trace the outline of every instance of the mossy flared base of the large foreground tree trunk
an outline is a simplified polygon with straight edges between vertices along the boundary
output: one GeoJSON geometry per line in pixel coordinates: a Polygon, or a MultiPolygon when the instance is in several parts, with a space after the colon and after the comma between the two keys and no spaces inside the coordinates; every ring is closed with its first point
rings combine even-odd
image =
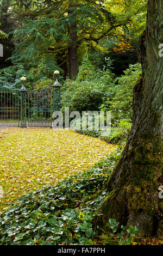
{"type": "MultiPolygon", "coordinates": [[[[161,181],[163,184],[161,138],[144,135],[130,150],[128,147],[112,174],[118,172],[118,179],[99,211],[103,215],[98,222],[106,228],[109,218],[116,218],[124,225],[139,225],[141,235],[149,236],[154,232],[153,223],[163,214],[158,196],[161,181]]],[[[110,182],[112,176],[108,189],[110,182]]]]}

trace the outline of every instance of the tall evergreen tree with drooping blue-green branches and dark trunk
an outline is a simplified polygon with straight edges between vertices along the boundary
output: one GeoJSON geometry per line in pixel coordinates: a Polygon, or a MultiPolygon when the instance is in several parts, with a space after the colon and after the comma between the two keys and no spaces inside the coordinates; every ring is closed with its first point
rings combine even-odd
{"type": "MultiPolygon", "coordinates": [[[[27,68],[36,68],[43,60],[50,72],[56,65],[66,70],[66,64],[69,63],[70,78],[76,77],[78,50],[84,42],[96,47],[103,38],[122,33],[120,28],[130,23],[130,7],[123,8],[123,13],[117,15],[112,12],[112,5],[105,2],[14,2],[13,11],[24,25],[14,32],[17,47],[12,62],[25,63],[27,68]]],[[[139,13],[144,6],[145,3],[137,7],[134,14],[139,13]]]]}

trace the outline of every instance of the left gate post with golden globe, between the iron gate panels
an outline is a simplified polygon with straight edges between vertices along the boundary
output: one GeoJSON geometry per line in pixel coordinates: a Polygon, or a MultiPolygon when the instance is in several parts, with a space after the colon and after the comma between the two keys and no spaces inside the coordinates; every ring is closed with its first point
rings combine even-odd
{"type": "MultiPolygon", "coordinates": [[[[21,78],[21,82],[25,83],[26,82],[26,77],[21,78]]],[[[26,121],[26,97],[27,97],[27,89],[23,85],[22,88],[20,89],[21,92],[21,123],[20,127],[24,128],[27,127],[27,121],[26,121]]]]}

